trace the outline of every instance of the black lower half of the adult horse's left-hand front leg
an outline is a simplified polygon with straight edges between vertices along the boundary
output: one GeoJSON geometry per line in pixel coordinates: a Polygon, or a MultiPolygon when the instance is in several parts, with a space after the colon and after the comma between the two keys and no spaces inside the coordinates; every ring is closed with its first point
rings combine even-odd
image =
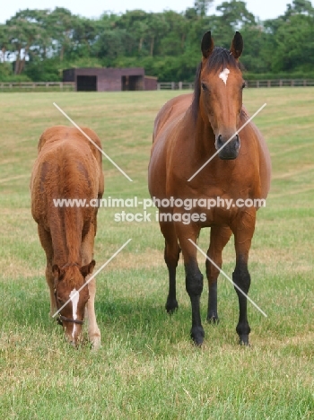
{"type": "Polygon", "coordinates": [[[200,297],[203,291],[203,275],[196,263],[186,265],[186,289],[192,306],[191,338],[200,346],[205,337],[200,314],[200,297]]]}

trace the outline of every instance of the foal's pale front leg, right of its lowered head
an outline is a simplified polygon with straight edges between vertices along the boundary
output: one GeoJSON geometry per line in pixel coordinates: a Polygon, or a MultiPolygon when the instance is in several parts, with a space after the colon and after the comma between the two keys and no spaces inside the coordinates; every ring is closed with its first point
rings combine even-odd
{"type": "MultiPolygon", "coordinates": [[[[83,266],[92,261],[93,244],[95,237],[95,225],[91,223],[89,232],[82,241],[82,257],[83,266]]],[[[88,282],[91,275],[87,276],[85,281],[88,282]]],[[[88,320],[88,337],[94,349],[100,347],[100,328],[97,325],[95,315],[95,295],[96,295],[96,279],[95,277],[88,283],[88,291],[90,299],[87,301],[85,314],[88,320]]]]}

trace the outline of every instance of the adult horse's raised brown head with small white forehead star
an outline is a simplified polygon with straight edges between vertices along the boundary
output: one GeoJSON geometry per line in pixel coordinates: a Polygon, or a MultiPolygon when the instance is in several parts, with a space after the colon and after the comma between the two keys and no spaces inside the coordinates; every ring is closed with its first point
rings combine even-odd
{"type": "Polygon", "coordinates": [[[245,87],[238,61],[242,48],[240,32],[232,39],[230,51],[214,48],[210,31],[205,33],[201,44],[203,58],[196,80],[198,106],[205,124],[213,128],[215,147],[224,160],[235,159],[240,149],[240,137],[235,133],[245,87]]]}

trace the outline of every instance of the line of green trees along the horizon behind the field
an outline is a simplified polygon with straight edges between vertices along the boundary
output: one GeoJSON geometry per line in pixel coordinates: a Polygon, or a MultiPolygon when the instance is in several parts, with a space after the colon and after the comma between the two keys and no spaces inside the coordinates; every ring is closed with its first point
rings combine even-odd
{"type": "Polygon", "coordinates": [[[141,66],[159,81],[189,82],[209,30],[225,48],[241,32],[249,78],[314,78],[310,0],[292,0],[283,15],[264,22],[243,1],[223,2],[212,13],[213,1],[196,0],[183,13],[133,10],[99,19],[63,7],[22,10],[0,25],[0,81],[59,81],[63,69],[78,66],[141,66]]]}

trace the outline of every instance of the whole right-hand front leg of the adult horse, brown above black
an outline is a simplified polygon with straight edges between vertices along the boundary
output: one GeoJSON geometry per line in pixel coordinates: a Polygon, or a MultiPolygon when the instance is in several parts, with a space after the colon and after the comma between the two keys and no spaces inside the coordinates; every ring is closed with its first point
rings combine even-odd
{"type": "MultiPolygon", "coordinates": [[[[251,207],[237,215],[231,225],[234,234],[236,251],[236,267],[232,274],[233,283],[246,295],[251,282],[248,269],[249,249],[255,229],[256,209],[251,207]]],[[[249,346],[249,321],[247,312],[247,297],[235,287],[239,299],[239,322],[236,331],[240,337],[240,345],[249,346]]]]}

